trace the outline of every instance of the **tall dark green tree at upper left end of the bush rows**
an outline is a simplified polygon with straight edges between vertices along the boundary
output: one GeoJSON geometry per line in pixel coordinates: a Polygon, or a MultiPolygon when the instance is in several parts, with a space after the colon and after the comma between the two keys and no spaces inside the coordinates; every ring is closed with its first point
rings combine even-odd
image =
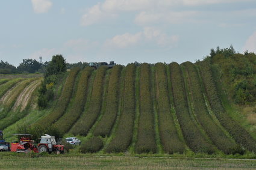
{"type": "Polygon", "coordinates": [[[46,77],[52,74],[58,74],[66,71],[66,59],[62,55],[52,56],[52,60],[49,62],[46,68],[46,77]]]}

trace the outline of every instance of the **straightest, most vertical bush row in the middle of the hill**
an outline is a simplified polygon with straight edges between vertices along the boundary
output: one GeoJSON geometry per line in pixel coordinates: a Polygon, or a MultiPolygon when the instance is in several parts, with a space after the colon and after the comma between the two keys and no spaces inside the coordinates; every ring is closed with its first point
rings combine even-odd
{"type": "Polygon", "coordinates": [[[154,112],[151,99],[151,69],[143,63],[140,71],[140,118],[138,127],[137,153],[155,153],[154,112]]]}

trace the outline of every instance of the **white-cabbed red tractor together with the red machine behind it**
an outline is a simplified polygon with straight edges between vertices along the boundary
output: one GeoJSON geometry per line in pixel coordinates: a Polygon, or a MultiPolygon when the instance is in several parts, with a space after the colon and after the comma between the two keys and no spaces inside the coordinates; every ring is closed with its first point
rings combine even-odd
{"type": "Polygon", "coordinates": [[[11,151],[16,153],[52,153],[56,154],[64,153],[64,145],[57,145],[55,141],[55,136],[50,136],[45,134],[41,136],[40,143],[36,146],[34,140],[32,140],[32,135],[30,134],[13,134],[17,135],[19,141],[11,143],[11,151]]]}

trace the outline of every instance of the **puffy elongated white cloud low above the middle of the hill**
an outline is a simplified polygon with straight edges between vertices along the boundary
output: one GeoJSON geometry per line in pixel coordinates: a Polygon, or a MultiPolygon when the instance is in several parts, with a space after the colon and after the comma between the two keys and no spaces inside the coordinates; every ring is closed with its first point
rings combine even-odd
{"type": "Polygon", "coordinates": [[[178,41],[178,35],[169,36],[159,29],[146,27],[136,34],[125,33],[116,35],[105,42],[106,47],[126,48],[134,45],[155,43],[158,46],[170,47],[178,41]]]}

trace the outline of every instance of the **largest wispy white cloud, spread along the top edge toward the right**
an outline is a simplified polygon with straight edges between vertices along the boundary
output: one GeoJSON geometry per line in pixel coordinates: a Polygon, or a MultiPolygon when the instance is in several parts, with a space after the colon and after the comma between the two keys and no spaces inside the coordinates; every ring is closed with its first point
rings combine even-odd
{"type": "Polygon", "coordinates": [[[136,23],[156,22],[158,19],[162,22],[167,20],[170,23],[176,23],[195,14],[195,11],[173,11],[172,7],[177,5],[200,6],[245,1],[253,0],[105,0],[89,8],[83,15],[81,24],[84,26],[93,25],[130,11],[139,12],[139,15],[136,16],[136,23]]]}

